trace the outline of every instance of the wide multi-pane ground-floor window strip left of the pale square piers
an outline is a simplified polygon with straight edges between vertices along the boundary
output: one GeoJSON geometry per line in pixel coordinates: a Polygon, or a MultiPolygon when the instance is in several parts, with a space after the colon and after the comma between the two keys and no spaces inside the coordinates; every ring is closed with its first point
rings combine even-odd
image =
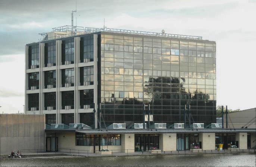
{"type": "Polygon", "coordinates": [[[76,145],[93,146],[94,137],[95,145],[99,145],[99,141],[101,145],[121,145],[120,134],[88,135],[83,133],[76,133],[76,145]]]}

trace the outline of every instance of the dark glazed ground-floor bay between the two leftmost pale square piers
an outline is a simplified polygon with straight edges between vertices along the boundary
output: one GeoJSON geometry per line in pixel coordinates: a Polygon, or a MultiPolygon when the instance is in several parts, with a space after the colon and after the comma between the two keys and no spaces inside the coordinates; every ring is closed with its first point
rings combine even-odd
{"type": "Polygon", "coordinates": [[[158,150],[159,149],[159,134],[135,134],[135,151],[158,150]]]}

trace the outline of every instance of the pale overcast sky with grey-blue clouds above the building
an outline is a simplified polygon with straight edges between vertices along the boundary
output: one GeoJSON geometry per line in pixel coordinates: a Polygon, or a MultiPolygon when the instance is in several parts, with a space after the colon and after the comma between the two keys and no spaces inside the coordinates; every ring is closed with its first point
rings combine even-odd
{"type": "MultiPolygon", "coordinates": [[[[23,112],[25,45],[70,25],[75,0],[0,0],[0,112],[23,112]]],[[[77,0],[77,26],[216,41],[217,105],[256,107],[256,0],[77,0]]]]}

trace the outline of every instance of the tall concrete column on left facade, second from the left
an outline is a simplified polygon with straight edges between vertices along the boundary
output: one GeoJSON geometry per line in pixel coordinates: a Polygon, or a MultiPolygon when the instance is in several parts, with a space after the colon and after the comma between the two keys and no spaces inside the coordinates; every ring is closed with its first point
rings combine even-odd
{"type": "Polygon", "coordinates": [[[44,98],[43,98],[43,89],[44,89],[44,46],[45,43],[39,43],[39,114],[42,114],[44,110],[44,98]]]}

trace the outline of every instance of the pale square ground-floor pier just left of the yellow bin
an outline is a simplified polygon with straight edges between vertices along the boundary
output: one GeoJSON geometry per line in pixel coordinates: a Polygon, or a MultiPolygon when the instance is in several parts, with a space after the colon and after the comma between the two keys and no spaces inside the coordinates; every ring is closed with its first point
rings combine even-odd
{"type": "Polygon", "coordinates": [[[215,150],[215,133],[200,133],[202,137],[202,150],[215,150]]]}

